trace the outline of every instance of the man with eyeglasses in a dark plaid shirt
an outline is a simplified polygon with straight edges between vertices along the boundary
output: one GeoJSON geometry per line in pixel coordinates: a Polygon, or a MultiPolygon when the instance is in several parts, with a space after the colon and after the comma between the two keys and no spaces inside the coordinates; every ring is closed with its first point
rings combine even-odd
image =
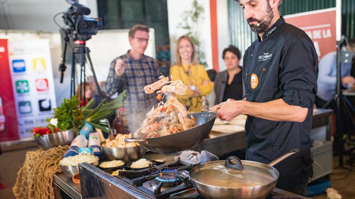
{"type": "Polygon", "coordinates": [[[108,96],[127,90],[124,107],[132,133],[141,127],[148,111],[158,103],[156,95],[143,91],[144,86],[158,81],[160,76],[157,61],[144,55],[149,41],[148,33],[147,26],[133,25],[128,35],[132,48],[111,62],[107,81],[102,88],[108,96]]]}

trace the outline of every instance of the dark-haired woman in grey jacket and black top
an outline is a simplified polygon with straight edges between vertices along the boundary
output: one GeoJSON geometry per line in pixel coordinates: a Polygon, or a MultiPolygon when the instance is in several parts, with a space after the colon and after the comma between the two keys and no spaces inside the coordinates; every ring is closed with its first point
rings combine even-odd
{"type": "Polygon", "coordinates": [[[220,104],[227,101],[227,99],[243,99],[245,89],[241,73],[242,69],[239,66],[240,57],[240,51],[235,46],[230,45],[223,50],[222,58],[227,69],[218,73],[214,80],[214,91],[216,93],[214,104],[220,104]]]}

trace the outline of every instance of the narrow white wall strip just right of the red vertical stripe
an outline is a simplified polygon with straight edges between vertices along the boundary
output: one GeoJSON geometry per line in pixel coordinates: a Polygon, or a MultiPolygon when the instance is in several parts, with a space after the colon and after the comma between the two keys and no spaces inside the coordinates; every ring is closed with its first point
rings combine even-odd
{"type": "Polygon", "coordinates": [[[218,63],[219,71],[226,70],[222,59],[223,49],[229,46],[228,0],[217,0],[218,63]]]}

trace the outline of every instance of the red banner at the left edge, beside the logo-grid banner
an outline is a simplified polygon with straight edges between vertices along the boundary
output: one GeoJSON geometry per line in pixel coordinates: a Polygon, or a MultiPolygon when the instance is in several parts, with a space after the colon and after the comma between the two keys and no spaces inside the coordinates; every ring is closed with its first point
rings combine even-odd
{"type": "Polygon", "coordinates": [[[5,116],[5,126],[1,126],[0,129],[2,130],[0,131],[0,141],[18,140],[17,117],[12,92],[7,39],[0,39],[0,80],[0,97],[2,99],[2,109],[4,110],[3,115],[5,116]]]}

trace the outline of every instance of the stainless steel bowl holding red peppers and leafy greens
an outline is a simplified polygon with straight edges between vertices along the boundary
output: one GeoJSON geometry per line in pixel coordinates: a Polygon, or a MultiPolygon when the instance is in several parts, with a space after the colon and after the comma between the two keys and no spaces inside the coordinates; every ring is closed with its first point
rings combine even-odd
{"type": "Polygon", "coordinates": [[[35,137],[34,140],[37,142],[40,148],[42,148],[43,150],[48,150],[52,147],[56,147],[59,145],[70,145],[70,143],[74,140],[74,133],[72,132],[72,130],[61,131],[58,133],[41,135],[35,137]]]}

